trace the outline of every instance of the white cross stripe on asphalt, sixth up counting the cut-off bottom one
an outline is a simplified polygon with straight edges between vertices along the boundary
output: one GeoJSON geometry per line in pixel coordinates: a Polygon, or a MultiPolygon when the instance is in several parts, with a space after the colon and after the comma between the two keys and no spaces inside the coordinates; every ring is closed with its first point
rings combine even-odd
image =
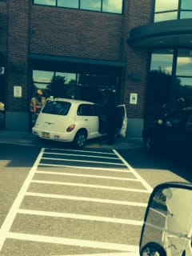
{"type": "Polygon", "coordinates": [[[59,173],[57,171],[44,171],[37,170],[35,174],[50,174],[50,175],[62,175],[62,176],[70,176],[70,177],[83,177],[83,178],[100,178],[100,179],[113,179],[119,181],[129,181],[129,182],[140,182],[137,178],[119,178],[119,177],[111,177],[111,176],[102,176],[102,175],[88,175],[88,174],[72,174],[72,173],[59,173]]]}

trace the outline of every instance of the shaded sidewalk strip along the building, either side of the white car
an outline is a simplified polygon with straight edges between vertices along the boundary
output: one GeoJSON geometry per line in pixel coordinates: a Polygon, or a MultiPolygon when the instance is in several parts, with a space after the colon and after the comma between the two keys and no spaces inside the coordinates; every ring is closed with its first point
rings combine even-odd
{"type": "MultiPolygon", "coordinates": [[[[47,147],[51,141],[45,141],[30,132],[18,132],[0,130],[0,143],[47,147]]],[[[62,143],[62,142],[61,142],[62,143]]],[[[86,142],[85,148],[113,148],[113,149],[130,149],[142,147],[142,138],[115,138],[114,145],[106,145],[105,138],[98,138],[86,142]]]]}

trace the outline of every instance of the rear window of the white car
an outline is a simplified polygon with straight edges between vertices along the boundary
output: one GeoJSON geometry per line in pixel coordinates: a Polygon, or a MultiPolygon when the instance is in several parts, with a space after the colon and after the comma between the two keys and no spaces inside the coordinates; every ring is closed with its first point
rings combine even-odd
{"type": "Polygon", "coordinates": [[[70,110],[70,102],[47,101],[42,113],[67,115],[70,110]]]}

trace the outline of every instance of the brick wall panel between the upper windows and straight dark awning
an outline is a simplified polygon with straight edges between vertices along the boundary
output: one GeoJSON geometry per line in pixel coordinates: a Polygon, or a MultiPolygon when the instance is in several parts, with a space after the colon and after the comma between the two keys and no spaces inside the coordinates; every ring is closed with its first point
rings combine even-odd
{"type": "Polygon", "coordinates": [[[33,6],[30,52],[122,59],[122,15],[33,6]]]}

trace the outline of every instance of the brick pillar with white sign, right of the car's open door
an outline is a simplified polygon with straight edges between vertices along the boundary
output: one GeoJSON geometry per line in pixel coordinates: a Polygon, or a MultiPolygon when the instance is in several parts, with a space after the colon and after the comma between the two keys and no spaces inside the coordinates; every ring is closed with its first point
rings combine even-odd
{"type": "Polygon", "coordinates": [[[152,22],[152,12],[154,1],[130,0],[126,2],[126,74],[125,89],[123,91],[123,102],[126,103],[127,112],[130,118],[143,118],[146,98],[147,70],[150,64],[150,51],[130,47],[127,43],[130,30],[137,26],[150,24],[152,22]],[[138,80],[134,77],[138,76],[138,80]],[[130,93],[138,94],[138,104],[130,104],[130,93]]]}

